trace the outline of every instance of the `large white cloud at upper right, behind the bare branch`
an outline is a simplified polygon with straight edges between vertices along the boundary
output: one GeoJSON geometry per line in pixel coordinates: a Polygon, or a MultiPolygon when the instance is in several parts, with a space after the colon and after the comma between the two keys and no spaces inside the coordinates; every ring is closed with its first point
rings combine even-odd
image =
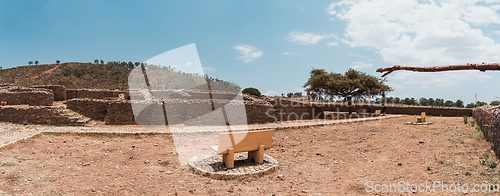
{"type": "MultiPolygon", "coordinates": [[[[499,62],[500,44],[481,29],[486,25],[487,29],[498,29],[498,3],[498,0],[343,0],[330,4],[327,11],[347,22],[344,37],[338,39],[342,43],[372,48],[390,64],[430,66],[499,62]]],[[[393,73],[390,77],[397,85],[406,84],[403,80],[408,78],[401,76],[407,74],[411,73],[393,73]]],[[[443,72],[436,78],[427,76],[420,73],[412,78],[435,85],[456,80],[454,77],[476,75],[443,72]]]]}

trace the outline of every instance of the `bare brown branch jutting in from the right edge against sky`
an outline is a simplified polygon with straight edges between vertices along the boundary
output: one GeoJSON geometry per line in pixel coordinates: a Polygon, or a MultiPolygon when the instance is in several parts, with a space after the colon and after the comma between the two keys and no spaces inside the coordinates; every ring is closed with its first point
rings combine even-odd
{"type": "Polygon", "coordinates": [[[490,64],[465,64],[465,65],[446,65],[446,66],[433,66],[433,67],[415,67],[415,66],[401,66],[394,65],[392,67],[378,68],[377,72],[385,73],[382,77],[385,77],[397,70],[407,70],[407,71],[417,71],[417,72],[438,72],[438,71],[456,71],[456,70],[500,70],[500,65],[498,63],[490,64]]]}

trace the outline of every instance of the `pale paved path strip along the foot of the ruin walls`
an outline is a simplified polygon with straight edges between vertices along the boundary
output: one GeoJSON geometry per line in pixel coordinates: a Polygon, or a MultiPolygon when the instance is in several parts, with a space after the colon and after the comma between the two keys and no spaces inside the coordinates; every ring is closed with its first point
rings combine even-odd
{"type": "MultiPolygon", "coordinates": [[[[371,118],[356,118],[343,120],[305,120],[288,121],[282,123],[252,124],[231,126],[232,131],[263,130],[263,129],[298,129],[310,126],[333,125],[339,123],[377,123],[378,120],[401,117],[403,115],[386,115],[371,118]]],[[[97,125],[92,127],[77,126],[49,126],[49,125],[21,125],[0,123],[0,148],[13,144],[19,140],[32,137],[43,132],[68,132],[68,133],[176,133],[176,132],[217,132],[227,131],[226,126],[172,126],[167,129],[163,126],[108,126],[97,125]]]]}

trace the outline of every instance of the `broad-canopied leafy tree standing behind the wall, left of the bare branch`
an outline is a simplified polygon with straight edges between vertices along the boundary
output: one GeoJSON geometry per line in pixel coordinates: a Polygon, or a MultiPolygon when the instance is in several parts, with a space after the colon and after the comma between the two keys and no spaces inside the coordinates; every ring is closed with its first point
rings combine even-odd
{"type": "MultiPolygon", "coordinates": [[[[354,69],[349,69],[344,74],[313,69],[304,88],[308,93],[346,98],[348,106],[351,106],[353,97],[370,98],[392,91],[384,82],[385,80],[354,69]]],[[[348,108],[350,113],[350,107],[348,108]]]]}

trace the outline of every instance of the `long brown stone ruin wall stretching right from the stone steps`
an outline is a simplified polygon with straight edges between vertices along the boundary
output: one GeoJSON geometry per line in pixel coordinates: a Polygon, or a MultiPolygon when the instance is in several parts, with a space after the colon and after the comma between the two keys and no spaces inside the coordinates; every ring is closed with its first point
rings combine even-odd
{"type": "MultiPolygon", "coordinates": [[[[133,94],[134,92],[132,92],[133,94]]],[[[206,98],[206,95],[198,93],[197,96],[173,95],[177,98],[192,98],[192,99],[167,99],[169,102],[166,108],[169,113],[178,115],[167,115],[170,122],[183,122],[189,119],[194,119],[198,116],[211,111],[210,100],[194,99],[206,98]]],[[[215,97],[215,96],[214,96],[215,97]]],[[[220,97],[234,97],[234,95],[221,95],[220,97]]],[[[141,102],[141,101],[139,101],[141,102]]],[[[142,100],[143,104],[150,105],[137,118],[146,124],[163,124],[165,116],[163,114],[160,102],[152,103],[142,100]]],[[[216,99],[215,108],[219,108],[227,104],[227,100],[216,99]]],[[[288,99],[264,98],[255,99],[245,96],[244,107],[246,117],[249,124],[254,123],[272,123],[288,120],[310,120],[310,119],[326,119],[323,115],[324,111],[332,112],[347,112],[348,107],[345,104],[314,104],[314,103],[299,103],[288,99]]],[[[98,100],[98,99],[73,99],[68,101],[68,108],[80,112],[90,118],[104,120],[109,125],[126,125],[135,124],[132,111],[132,103],[130,100],[98,100]]],[[[368,109],[368,105],[354,105],[351,111],[356,111],[358,108],[368,109]]],[[[381,110],[382,106],[373,106],[374,110],[381,110]]],[[[387,106],[386,113],[388,114],[407,114],[420,115],[425,112],[429,116],[448,116],[460,117],[470,116],[472,110],[469,108],[446,108],[446,107],[429,107],[429,106],[387,106]]],[[[243,117],[241,117],[243,118],[243,117]]],[[[213,122],[219,122],[220,119],[214,119],[213,122]]],[[[188,121],[187,124],[196,124],[197,122],[188,121]]]]}

